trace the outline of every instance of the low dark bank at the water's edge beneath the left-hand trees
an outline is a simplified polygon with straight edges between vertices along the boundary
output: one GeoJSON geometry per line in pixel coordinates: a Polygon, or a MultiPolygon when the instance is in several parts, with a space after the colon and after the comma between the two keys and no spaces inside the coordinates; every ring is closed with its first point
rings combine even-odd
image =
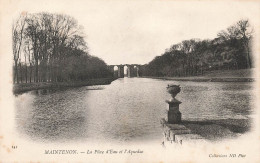
{"type": "Polygon", "coordinates": [[[20,84],[14,84],[13,92],[14,94],[20,94],[27,91],[39,90],[39,89],[107,85],[114,80],[115,80],[114,78],[100,78],[100,79],[88,79],[85,81],[74,81],[74,82],[71,81],[71,82],[20,83],[20,84]]]}

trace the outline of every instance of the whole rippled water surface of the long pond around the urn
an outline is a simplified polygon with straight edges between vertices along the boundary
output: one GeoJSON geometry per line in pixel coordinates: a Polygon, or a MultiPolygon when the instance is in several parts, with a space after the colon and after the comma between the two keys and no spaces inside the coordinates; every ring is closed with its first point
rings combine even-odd
{"type": "Polygon", "coordinates": [[[252,114],[252,83],[124,78],[105,86],[18,95],[16,128],[35,141],[160,140],[160,119],[170,98],[167,84],[182,87],[177,99],[182,101],[183,120],[248,119],[252,114]]]}

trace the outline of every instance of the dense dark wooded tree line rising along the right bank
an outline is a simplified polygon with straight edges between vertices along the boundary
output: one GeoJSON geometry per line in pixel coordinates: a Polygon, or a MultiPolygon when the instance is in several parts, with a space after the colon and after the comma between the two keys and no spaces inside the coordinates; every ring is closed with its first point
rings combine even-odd
{"type": "Polygon", "coordinates": [[[252,34],[249,21],[240,20],[213,40],[184,40],[143,65],[140,75],[196,76],[211,70],[252,68],[252,34]]]}

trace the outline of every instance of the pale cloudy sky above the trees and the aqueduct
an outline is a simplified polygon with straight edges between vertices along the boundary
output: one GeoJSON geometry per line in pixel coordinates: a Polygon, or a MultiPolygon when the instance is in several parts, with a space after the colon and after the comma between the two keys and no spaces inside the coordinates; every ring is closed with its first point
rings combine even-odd
{"type": "Polygon", "coordinates": [[[84,27],[89,53],[107,64],[146,64],[182,40],[212,39],[240,19],[259,27],[253,1],[18,1],[16,14],[47,11],[84,27]],[[243,2],[243,3],[241,3],[243,2]]]}

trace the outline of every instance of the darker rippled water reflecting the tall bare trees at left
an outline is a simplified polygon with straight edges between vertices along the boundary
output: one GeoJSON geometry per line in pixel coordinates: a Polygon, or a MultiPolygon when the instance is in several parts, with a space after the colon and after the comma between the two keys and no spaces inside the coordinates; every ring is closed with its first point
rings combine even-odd
{"type": "Polygon", "coordinates": [[[18,126],[32,139],[63,140],[85,137],[87,104],[83,90],[37,90],[17,99],[18,126]]]}

